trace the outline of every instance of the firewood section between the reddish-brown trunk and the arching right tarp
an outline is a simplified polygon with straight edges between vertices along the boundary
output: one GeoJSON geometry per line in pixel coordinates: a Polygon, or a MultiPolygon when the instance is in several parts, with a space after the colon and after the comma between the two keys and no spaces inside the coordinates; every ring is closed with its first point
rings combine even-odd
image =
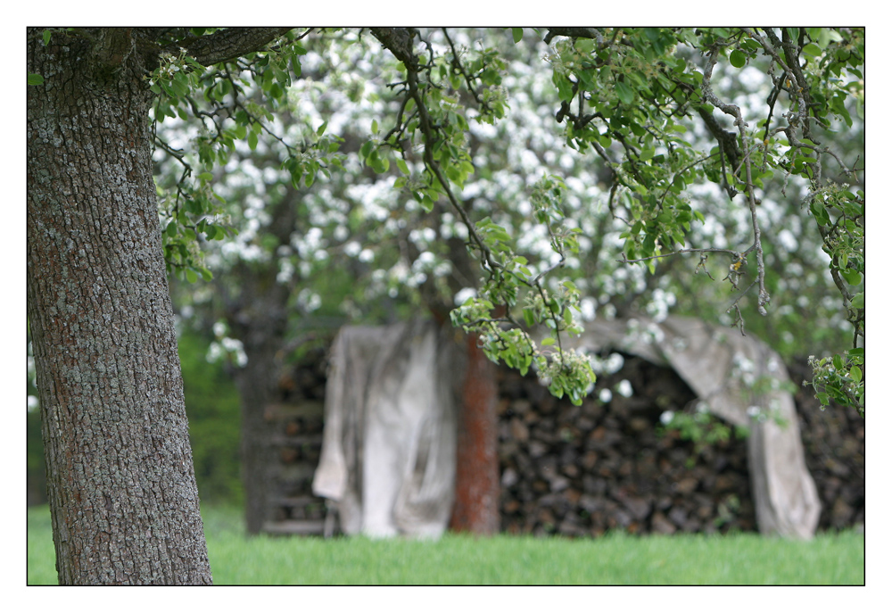
{"type": "Polygon", "coordinates": [[[580,407],[553,398],[534,376],[502,370],[500,378],[503,531],[755,529],[746,441],[698,445],[658,434],[665,411],[695,401],[671,369],[625,356],[580,407]]]}

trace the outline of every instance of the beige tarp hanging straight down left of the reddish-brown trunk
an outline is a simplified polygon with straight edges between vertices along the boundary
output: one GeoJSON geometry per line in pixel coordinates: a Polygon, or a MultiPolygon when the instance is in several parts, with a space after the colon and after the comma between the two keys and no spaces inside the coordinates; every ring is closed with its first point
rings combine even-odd
{"type": "Polygon", "coordinates": [[[456,352],[434,323],[343,327],[313,493],[345,534],[438,536],[455,497],[456,352]]]}

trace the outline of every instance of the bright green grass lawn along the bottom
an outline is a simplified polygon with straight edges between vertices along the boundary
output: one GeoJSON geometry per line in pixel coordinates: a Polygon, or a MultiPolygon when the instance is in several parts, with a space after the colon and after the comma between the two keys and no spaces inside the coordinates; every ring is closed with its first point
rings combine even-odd
{"type": "MultiPolygon", "coordinates": [[[[863,584],[864,535],[567,540],[247,538],[237,509],[203,509],[215,584],[863,584]]],[[[29,509],[28,582],[54,584],[49,511],[29,509]]]]}

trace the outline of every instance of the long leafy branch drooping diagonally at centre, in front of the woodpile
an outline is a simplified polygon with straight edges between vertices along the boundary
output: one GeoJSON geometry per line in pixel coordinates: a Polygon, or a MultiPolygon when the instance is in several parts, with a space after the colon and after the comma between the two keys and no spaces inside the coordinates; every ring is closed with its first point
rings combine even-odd
{"type": "MultiPolygon", "coordinates": [[[[467,173],[473,170],[473,166],[467,162],[467,153],[461,152],[452,143],[463,138],[462,128],[467,128],[467,124],[459,121],[457,116],[450,115],[448,101],[443,105],[444,95],[432,78],[433,57],[425,64],[419,62],[413,49],[415,37],[420,38],[417,30],[373,28],[371,32],[402,62],[406,74],[404,81],[391,84],[392,88],[400,88],[403,100],[397,113],[397,125],[387,133],[385,142],[399,150],[405,158],[408,153],[402,137],[413,131],[412,126],[417,126],[424,144],[423,160],[427,183],[425,196],[420,201],[423,205],[428,202],[430,210],[438,195],[445,196],[467,228],[469,246],[478,253],[483,271],[487,275],[483,280],[481,296],[468,299],[450,313],[450,319],[454,325],[464,327],[466,331],[477,332],[483,350],[491,360],[503,359],[509,366],[519,368],[522,372],[535,362],[540,376],[550,379],[549,388],[552,393],[558,397],[568,393],[573,402],[581,403],[582,396],[594,381],[594,373],[588,360],[568,354],[560,340],[562,330],[578,329],[574,327],[570,314],[574,306],[578,309],[578,291],[574,292],[574,286],[565,286],[565,295],[558,297],[549,294],[543,286],[544,278],[564,265],[566,248],[574,247],[572,234],[558,230],[554,223],[563,217],[559,210],[561,186],[553,179],[545,178],[533,190],[536,218],[548,228],[550,244],[559,256],[557,262],[533,276],[533,272],[526,266],[526,259],[511,250],[511,239],[504,228],[489,218],[475,224],[465,207],[458,203],[452,183],[456,182],[460,186],[467,173]],[[412,104],[413,112],[406,117],[409,104],[412,104]],[[525,322],[530,326],[546,323],[553,330],[554,337],[549,336],[544,343],[557,342],[557,353],[549,355],[541,352],[532,338],[520,329],[520,322],[511,315],[509,310],[516,306],[521,287],[532,291],[534,296],[532,302],[524,307],[525,322]],[[503,304],[507,309],[503,310],[497,304],[503,304]],[[504,311],[505,314],[493,317],[493,311],[504,311]]],[[[445,36],[452,50],[451,69],[464,81],[481,107],[483,116],[498,116],[499,112],[484,100],[475,87],[477,82],[487,78],[487,74],[489,79],[494,79],[493,72],[485,67],[485,62],[474,74],[469,72],[463,66],[448,33],[445,36]]],[[[376,160],[371,147],[366,150],[366,159],[373,162],[376,160]]]]}

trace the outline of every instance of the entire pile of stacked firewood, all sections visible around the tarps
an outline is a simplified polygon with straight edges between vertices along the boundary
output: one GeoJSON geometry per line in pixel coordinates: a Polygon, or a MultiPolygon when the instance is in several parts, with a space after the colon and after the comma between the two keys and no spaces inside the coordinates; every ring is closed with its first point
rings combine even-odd
{"type": "MultiPolygon", "coordinates": [[[[797,384],[810,377],[804,361],[788,368],[797,384]]],[[[301,521],[318,527],[326,517],[324,501],[311,495],[325,385],[320,349],[282,377],[268,407],[280,458],[273,517],[283,531],[297,531],[301,521]]],[[[499,369],[499,390],[502,531],[582,536],[757,529],[746,440],[731,435],[703,444],[661,432],[666,411],[690,410],[696,402],[673,370],[624,355],[622,368],[601,373],[580,407],[552,397],[534,375],[510,369],[499,369]]],[[[806,465],[822,501],[818,529],[863,525],[863,418],[836,406],[821,411],[811,388],[800,388],[796,402],[806,465]]]]}

